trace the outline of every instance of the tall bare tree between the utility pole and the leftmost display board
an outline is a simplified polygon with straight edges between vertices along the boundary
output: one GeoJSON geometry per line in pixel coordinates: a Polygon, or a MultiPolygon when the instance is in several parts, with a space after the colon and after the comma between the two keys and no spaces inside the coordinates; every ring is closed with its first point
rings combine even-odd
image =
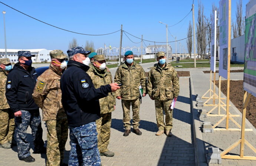
{"type": "Polygon", "coordinates": [[[201,55],[201,60],[203,55],[205,58],[206,53],[206,21],[204,19],[204,6],[201,1],[198,1],[198,13],[197,13],[197,53],[201,55]]]}

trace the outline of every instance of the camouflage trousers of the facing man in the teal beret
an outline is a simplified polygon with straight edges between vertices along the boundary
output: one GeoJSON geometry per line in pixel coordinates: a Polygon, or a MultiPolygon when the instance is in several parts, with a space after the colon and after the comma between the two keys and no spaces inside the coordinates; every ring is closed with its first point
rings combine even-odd
{"type": "Polygon", "coordinates": [[[132,105],[133,129],[139,128],[140,122],[140,98],[135,100],[122,100],[123,122],[125,129],[131,129],[130,107],[132,105]]]}

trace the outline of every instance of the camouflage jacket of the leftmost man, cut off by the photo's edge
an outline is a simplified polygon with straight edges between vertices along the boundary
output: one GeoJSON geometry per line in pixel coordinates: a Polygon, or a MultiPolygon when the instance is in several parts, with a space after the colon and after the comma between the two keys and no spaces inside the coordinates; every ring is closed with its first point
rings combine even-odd
{"type": "Polygon", "coordinates": [[[5,97],[5,87],[8,73],[0,69],[0,110],[10,108],[5,97]]]}

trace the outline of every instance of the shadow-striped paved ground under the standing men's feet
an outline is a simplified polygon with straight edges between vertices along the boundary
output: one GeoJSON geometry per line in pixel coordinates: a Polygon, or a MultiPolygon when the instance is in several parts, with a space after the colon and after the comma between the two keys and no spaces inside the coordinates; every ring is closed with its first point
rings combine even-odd
{"type": "MultiPolygon", "coordinates": [[[[142,64],[145,70],[149,64],[142,64]]],[[[114,77],[116,69],[111,69],[114,77]]],[[[112,113],[111,138],[109,150],[115,152],[115,156],[108,158],[102,156],[102,165],[106,166],[164,166],[164,165],[189,165],[195,164],[193,126],[190,113],[190,92],[188,77],[180,77],[180,96],[173,113],[173,136],[155,136],[158,131],[155,118],[154,101],[148,95],[143,98],[140,108],[140,129],[142,135],[131,133],[123,136],[121,101],[117,100],[116,110],[112,113]]],[[[42,121],[43,140],[46,141],[46,126],[42,121]]],[[[27,137],[31,142],[31,129],[27,129],[27,137]]],[[[46,146],[46,145],[45,145],[46,146]]],[[[33,148],[33,143],[30,143],[33,148]]],[[[70,151],[69,139],[66,143],[65,163],[68,163],[70,151]]],[[[33,150],[30,149],[32,153],[33,150]]],[[[45,154],[32,154],[36,159],[33,163],[25,163],[17,157],[17,146],[12,149],[0,149],[0,166],[44,166],[45,154]]]]}

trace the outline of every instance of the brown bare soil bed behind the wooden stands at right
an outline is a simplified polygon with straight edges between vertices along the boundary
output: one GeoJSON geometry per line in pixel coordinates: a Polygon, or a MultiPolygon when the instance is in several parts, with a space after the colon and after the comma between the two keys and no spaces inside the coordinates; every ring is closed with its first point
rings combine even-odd
{"type": "MultiPolygon", "coordinates": [[[[219,81],[216,81],[219,87],[219,81]]],[[[221,91],[227,95],[227,80],[221,81],[221,91]]],[[[243,113],[243,80],[230,80],[230,101],[243,113]]],[[[256,128],[256,97],[252,96],[246,107],[246,118],[256,128]]]]}

